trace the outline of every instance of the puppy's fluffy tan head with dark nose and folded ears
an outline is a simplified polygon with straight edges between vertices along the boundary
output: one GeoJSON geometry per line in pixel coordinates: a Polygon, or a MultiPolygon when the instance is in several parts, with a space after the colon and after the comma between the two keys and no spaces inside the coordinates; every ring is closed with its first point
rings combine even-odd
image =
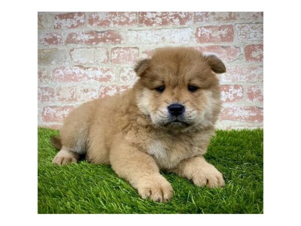
{"type": "Polygon", "coordinates": [[[140,111],[161,128],[188,130],[212,126],[220,111],[215,73],[226,71],[214,55],[192,48],[157,49],[137,63],[134,89],[140,111]]]}

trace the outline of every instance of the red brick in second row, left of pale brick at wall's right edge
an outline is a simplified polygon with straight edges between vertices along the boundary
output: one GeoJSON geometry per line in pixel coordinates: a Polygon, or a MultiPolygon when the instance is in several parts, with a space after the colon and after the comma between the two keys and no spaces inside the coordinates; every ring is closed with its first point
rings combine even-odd
{"type": "Polygon", "coordinates": [[[198,27],[195,33],[197,42],[233,42],[234,29],[232,25],[198,27]]]}

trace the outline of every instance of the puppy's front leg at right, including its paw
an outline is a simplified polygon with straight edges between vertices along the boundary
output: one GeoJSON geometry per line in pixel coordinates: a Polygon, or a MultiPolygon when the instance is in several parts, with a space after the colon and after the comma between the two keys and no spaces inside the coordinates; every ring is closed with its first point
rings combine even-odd
{"type": "Polygon", "coordinates": [[[225,186],[223,175],[203,156],[183,160],[172,172],[192,180],[195,185],[200,187],[205,185],[209,188],[225,186]]]}

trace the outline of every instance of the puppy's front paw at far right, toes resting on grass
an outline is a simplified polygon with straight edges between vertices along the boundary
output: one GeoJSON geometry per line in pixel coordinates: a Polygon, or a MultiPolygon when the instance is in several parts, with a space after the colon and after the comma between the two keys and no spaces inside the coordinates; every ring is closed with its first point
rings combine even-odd
{"type": "Polygon", "coordinates": [[[224,187],[225,181],[223,174],[221,174],[213,165],[206,164],[200,168],[192,177],[192,181],[195,185],[209,188],[224,187]]]}

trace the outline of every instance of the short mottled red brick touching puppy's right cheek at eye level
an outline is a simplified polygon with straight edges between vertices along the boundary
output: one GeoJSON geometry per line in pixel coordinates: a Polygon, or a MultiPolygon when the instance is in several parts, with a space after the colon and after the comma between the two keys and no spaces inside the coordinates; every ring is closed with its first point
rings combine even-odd
{"type": "Polygon", "coordinates": [[[224,102],[242,100],[243,87],[241,85],[221,85],[221,99],[224,102]]]}

